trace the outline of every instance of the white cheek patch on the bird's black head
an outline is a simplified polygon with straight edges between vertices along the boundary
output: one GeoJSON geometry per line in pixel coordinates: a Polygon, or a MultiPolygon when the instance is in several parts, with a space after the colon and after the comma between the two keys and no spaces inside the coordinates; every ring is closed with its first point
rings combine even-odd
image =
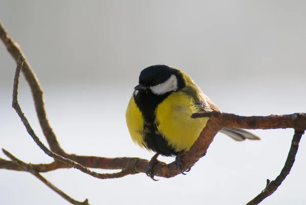
{"type": "Polygon", "coordinates": [[[165,82],[150,86],[152,93],[156,95],[163,95],[165,93],[177,90],[177,78],[175,75],[171,75],[165,82]]]}

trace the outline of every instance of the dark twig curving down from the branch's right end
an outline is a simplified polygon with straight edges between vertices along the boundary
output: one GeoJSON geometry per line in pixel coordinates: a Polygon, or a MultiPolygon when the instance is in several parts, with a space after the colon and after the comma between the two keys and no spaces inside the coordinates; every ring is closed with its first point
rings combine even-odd
{"type": "Polygon", "coordinates": [[[282,182],[286,179],[287,175],[289,174],[293,166],[295,156],[298,150],[298,144],[303,134],[304,132],[294,132],[293,139],[291,142],[291,147],[288,153],[288,157],[287,157],[287,160],[285,162],[285,165],[281,173],[279,173],[279,175],[276,177],[275,180],[271,182],[267,180],[266,188],[260,194],[258,194],[255,198],[249,201],[246,205],[259,204],[262,200],[264,200],[265,198],[273,194],[274,191],[276,191],[276,189],[282,184],[282,182]]]}

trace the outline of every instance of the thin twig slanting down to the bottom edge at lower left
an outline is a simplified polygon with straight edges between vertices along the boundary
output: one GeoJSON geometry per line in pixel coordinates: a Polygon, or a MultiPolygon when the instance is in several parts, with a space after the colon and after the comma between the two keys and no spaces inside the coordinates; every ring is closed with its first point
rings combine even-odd
{"type": "Polygon", "coordinates": [[[57,188],[56,186],[54,186],[52,183],[50,183],[48,180],[46,180],[44,177],[42,177],[41,174],[39,174],[32,166],[31,164],[27,164],[24,163],[23,161],[17,159],[15,156],[13,156],[11,153],[9,153],[8,151],[2,149],[3,153],[12,160],[12,162],[15,164],[15,166],[17,166],[20,170],[23,171],[27,171],[32,173],[37,179],[39,179],[41,182],[43,182],[47,187],[49,187],[50,189],[52,189],[53,191],[55,191],[56,193],[58,193],[61,197],[63,197],[64,199],[66,199],[67,201],[69,201],[72,204],[75,205],[89,205],[88,203],[88,199],[86,199],[83,202],[74,200],[73,198],[71,198],[70,196],[68,196],[66,193],[64,193],[62,190],[60,190],[59,188],[57,188]]]}

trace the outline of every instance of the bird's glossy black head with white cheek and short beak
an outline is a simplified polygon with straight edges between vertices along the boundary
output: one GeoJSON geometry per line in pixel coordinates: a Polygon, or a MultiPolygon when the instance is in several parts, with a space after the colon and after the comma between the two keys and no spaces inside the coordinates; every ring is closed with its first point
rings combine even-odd
{"type": "Polygon", "coordinates": [[[164,95],[178,91],[185,86],[180,70],[165,65],[155,65],[141,71],[139,85],[135,87],[135,90],[164,95]]]}

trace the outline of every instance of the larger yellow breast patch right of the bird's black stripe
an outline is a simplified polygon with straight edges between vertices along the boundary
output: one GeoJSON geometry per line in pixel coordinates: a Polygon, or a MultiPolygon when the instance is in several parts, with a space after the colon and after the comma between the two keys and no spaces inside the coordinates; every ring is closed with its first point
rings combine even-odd
{"type": "Polygon", "coordinates": [[[183,92],[172,93],[158,105],[158,131],[175,151],[188,151],[206,126],[209,118],[191,118],[191,114],[198,111],[192,98],[183,92]]]}

